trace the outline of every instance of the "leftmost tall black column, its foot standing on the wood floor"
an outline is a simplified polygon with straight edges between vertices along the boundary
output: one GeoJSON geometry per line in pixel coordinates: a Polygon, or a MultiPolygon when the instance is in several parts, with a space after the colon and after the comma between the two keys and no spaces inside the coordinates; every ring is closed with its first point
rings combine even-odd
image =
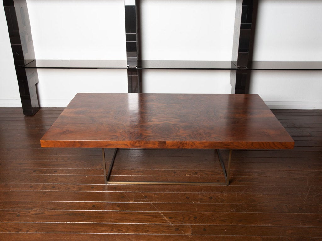
{"type": "MultiPolygon", "coordinates": [[[[37,69],[24,65],[35,58],[26,0],[3,0],[24,115],[39,110],[37,69]]],[[[10,91],[10,90],[8,90],[10,91]]]]}

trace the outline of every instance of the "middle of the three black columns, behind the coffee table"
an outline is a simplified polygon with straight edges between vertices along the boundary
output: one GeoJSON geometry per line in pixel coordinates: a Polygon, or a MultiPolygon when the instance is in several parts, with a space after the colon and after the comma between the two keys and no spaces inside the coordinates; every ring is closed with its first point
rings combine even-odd
{"type": "Polygon", "coordinates": [[[139,1],[125,0],[125,32],[128,65],[128,93],[140,93],[139,59],[139,1]]]}

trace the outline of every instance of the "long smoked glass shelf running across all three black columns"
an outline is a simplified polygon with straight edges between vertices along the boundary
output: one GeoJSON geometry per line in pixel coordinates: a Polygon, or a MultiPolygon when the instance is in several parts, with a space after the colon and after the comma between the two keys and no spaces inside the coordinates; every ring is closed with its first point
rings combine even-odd
{"type": "Polygon", "coordinates": [[[25,60],[25,68],[47,69],[217,69],[217,70],[322,70],[322,61],[253,61],[251,68],[236,67],[233,61],[141,60],[128,66],[127,60],[25,60]]]}

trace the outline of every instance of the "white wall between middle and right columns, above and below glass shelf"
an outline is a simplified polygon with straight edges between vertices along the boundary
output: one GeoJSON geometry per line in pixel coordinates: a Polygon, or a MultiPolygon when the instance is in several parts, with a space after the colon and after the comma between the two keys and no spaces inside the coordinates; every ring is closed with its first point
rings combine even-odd
{"type": "MultiPolygon", "coordinates": [[[[235,0],[141,1],[143,60],[231,60],[235,0]],[[157,3],[157,4],[156,4],[157,3]]],[[[145,93],[231,93],[227,70],[144,70],[145,93]]]]}

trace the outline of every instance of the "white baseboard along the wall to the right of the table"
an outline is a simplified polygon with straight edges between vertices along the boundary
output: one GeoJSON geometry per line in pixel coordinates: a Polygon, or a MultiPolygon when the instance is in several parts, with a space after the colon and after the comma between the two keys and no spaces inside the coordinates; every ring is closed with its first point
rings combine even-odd
{"type": "Polygon", "coordinates": [[[270,109],[302,109],[302,110],[322,109],[322,102],[265,101],[265,103],[270,109]]]}

